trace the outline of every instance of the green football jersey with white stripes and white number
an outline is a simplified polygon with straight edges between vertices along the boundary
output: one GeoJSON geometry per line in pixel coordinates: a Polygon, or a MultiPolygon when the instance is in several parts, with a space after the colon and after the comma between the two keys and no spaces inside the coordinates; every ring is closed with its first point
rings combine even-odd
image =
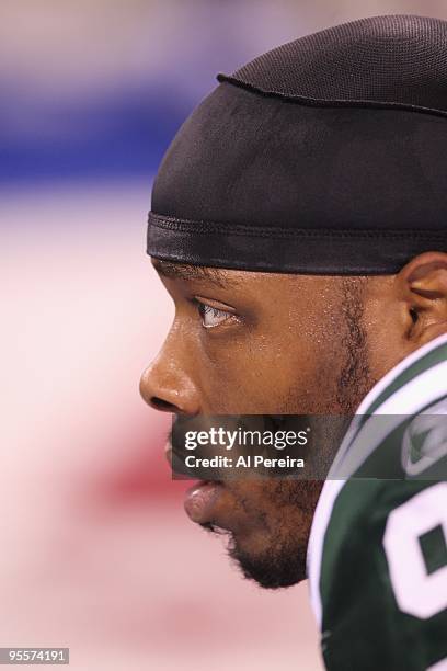
{"type": "Polygon", "coordinates": [[[329,671],[447,671],[447,337],[366,397],[308,551],[329,671]]]}

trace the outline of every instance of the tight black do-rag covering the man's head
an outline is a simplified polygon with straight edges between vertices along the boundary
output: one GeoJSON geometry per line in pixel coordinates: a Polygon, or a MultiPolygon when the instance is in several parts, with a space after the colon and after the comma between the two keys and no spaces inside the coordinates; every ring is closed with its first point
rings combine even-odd
{"type": "Polygon", "coordinates": [[[447,251],[447,22],[354,21],[218,80],[158,172],[149,254],[387,274],[447,251]]]}

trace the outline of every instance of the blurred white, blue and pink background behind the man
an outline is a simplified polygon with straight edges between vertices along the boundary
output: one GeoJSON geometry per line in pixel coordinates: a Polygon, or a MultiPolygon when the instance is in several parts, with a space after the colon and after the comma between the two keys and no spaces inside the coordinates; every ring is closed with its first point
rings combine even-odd
{"type": "Polygon", "coordinates": [[[153,174],[216,73],[444,1],[2,0],[0,646],[89,671],[321,670],[307,585],[263,592],[184,515],[139,376],[173,316],[153,174]]]}

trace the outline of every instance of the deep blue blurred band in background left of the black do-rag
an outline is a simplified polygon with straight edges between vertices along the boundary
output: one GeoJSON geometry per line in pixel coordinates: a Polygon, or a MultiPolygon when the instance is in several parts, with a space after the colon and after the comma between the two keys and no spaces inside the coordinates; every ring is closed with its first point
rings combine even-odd
{"type": "Polygon", "coordinates": [[[8,116],[27,110],[26,133],[0,124],[0,181],[149,177],[191,103],[163,90],[119,90],[96,100],[57,101],[43,105],[32,98],[1,94],[8,116]],[[39,123],[35,117],[39,116],[39,123]],[[34,123],[33,123],[34,121],[34,123]]]}

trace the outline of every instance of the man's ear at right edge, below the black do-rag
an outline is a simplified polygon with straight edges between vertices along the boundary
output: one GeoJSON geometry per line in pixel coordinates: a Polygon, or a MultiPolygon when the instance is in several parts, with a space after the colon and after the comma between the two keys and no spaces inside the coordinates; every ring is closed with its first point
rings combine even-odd
{"type": "Polygon", "coordinates": [[[397,275],[405,306],[406,338],[421,346],[447,332],[447,253],[425,252],[397,275]]]}

